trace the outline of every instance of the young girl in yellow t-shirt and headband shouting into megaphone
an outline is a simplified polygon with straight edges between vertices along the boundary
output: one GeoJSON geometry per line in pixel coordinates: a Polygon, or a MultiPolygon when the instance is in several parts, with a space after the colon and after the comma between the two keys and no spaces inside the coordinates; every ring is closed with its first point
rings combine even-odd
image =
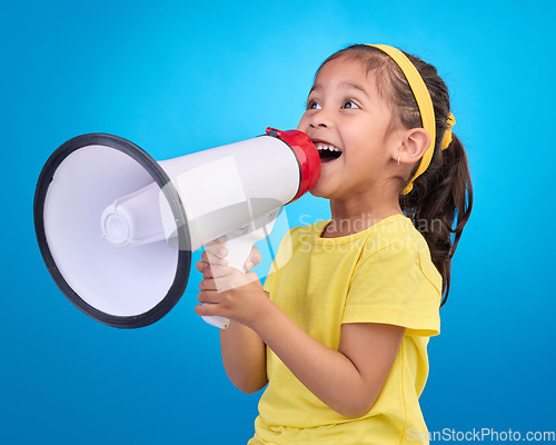
{"type": "Polygon", "coordinates": [[[197,314],[232,320],[229,378],[268,383],[249,445],[428,443],[427,343],[473,202],[454,123],[436,69],[393,47],[356,44],[317,71],[298,129],[321,151],[311,194],[330,220],[290,230],[264,288],[221,245],[197,265],[197,314]]]}

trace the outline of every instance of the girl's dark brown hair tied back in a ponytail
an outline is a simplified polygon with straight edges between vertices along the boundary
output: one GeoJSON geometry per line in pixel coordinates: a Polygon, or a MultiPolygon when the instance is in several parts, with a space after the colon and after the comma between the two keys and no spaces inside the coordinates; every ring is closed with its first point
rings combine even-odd
{"type": "MultiPolygon", "coordinates": [[[[436,145],[430,165],[423,175],[415,179],[414,188],[409,194],[401,195],[401,190],[413,178],[418,162],[409,177],[399,178],[399,204],[406,216],[411,218],[415,227],[427,240],[433,263],[443,277],[441,305],[444,305],[450,288],[451,258],[471,212],[471,178],[467,155],[456,135],[453,135],[451,144],[446,150],[440,149],[450,112],[446,83],[434,66],[415,56],[404,53],[419,71],[433,99],[436,145]]],[[[395,119],[391,122],[393,126],[401,123],[406,128],[423,127],[419,109],[407,79],[388,55],[367,44],[354,44],[330,56],[320,68],[340,56],[359,60],[366,67],[367,72],[377,73],[378,92],[393,106],[395,119]]]]}

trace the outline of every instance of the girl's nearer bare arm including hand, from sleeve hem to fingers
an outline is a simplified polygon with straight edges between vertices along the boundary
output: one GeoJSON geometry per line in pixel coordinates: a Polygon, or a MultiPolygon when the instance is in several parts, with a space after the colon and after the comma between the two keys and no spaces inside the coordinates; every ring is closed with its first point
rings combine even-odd
{"type": "Polygon", "coordinates": [[[344,325],[339,348],[334,350],[270,301],[254,274],[224,265],[214,265],[212,271],[229,290],[217,291],[214,278],[202,280],[199,301],[210,305],[197,306],[197,314],[220,315],[251,329],[312,394],[339,414],[360,417],[370,409],[399,350],[403,327],[344,325]]]}

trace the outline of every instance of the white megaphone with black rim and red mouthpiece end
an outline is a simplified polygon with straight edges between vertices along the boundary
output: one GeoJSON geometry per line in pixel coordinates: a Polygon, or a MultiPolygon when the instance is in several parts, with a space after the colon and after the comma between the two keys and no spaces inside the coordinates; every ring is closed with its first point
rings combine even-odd
{"type": "MultiPolygon", "coordinates": [[[[238,269],[281,206],[310,190],[320,159],[298,130],[157,162],[123,138],[89,134],[47,160],[34,195],[50,275],[89,317],[118,328],[162,318],[189,278],[191,253],[226,236],[238,269]]],[[[205,317],[226,328],[229,320],[205,317]]]]}

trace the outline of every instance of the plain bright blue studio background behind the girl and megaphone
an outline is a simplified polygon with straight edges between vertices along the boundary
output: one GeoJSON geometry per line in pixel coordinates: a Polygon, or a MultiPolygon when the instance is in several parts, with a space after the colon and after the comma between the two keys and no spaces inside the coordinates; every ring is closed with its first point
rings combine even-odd
{"type": "MultiPolygon", "coordinates": [[[[34,185],[80,134],[166,159],[295,128],[316,68],[356,42],[438,67],[473,171],[474,214],[429,347],[429,429],[555,431],[552,4],[2,1],[0,442],[246,443],[258,395],[228,382],[218,332],[193,313],[199,274],[150,327],[92,322],[42,263],[34,185]]],[[[287,215],[296,225],[328,208],[306,196],[287,215]]]]}

